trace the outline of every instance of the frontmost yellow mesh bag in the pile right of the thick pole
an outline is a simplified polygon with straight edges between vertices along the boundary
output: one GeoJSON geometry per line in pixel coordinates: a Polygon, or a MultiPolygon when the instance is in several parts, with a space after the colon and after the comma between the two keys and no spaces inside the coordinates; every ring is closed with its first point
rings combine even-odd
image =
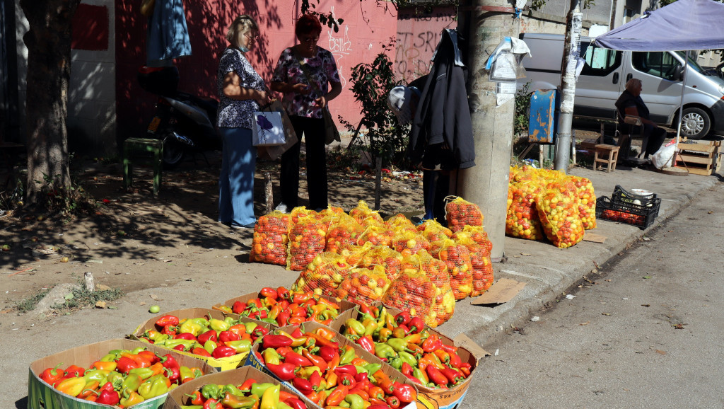
{"type": "Polygon", "coordinates": [[[578,194],[571,182],[549,183],[536,199],[543,230],[556,247],[565,249],[584,238],[584,226],[578,217],[578,194]]]}

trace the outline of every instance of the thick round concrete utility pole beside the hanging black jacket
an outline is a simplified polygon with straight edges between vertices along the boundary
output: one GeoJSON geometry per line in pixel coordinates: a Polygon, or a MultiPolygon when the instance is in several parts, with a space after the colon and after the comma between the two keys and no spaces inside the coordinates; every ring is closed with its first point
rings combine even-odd
{"type": "Polygon", "coordinates": [[[505,243],[508,175],[513,149],[515,102],[496,107],[496,83],[488,80],[485,63],[500,42],[520,33],[519,19],[505,0],[461,0],[460,35],[468,39],[468,103],[473,123],[475,163],[458,173],[458,194],[479,205],[492,241],[491,259],[498,262],[505,243]]]}

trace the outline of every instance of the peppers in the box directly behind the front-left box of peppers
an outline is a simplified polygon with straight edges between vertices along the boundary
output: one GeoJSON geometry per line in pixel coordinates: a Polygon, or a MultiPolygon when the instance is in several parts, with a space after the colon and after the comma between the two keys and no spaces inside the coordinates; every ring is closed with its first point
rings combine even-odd
{"type": "Polygon", "coordinates": [[[223,320],[208,317],[179,319],[174,315],[164,315],[156,321],[155,327],[138,339],[216,359],[249,352],[251,343],[269,332],[256,323],[240,323],[232,317],[223,320]]]}

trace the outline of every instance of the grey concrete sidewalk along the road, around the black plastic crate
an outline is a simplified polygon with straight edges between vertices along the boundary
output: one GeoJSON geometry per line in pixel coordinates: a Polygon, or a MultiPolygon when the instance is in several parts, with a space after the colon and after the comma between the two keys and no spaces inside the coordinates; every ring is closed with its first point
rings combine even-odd
{"type": "MultiPolygon", "coordinates": [[[[572,175],[589,178],[597,197],[610,197],[616,185],[623,189],[647,189],[662,199],[658,218],[647,231],[660,226],[671,215],[695,200],[699,194],[719,181],[715,176],[674,176],[655,170],[617,168],[614,172],[575,168],[572,175]]],[[[597,220],[593,233],[606,236],[603,244],[581,241],[568,249],[558,249],[548,241],[531,241],[505,237],[505,263],[494,265],[495,280],[512,278],[526,286],[510,302],[496,307],[471,305],[464,299],[455,305],[455,315],[439,327],[449,336],[465,333],[485,346],[515,321],[534,315],[542,305],[554,301],[565,289],[589,276],[591,271],[612,259],[626,247],[641,239],[646,231],[638,227],[597,220]]],[[[490,352],[490,351],[489,351],[490,352]]]]}

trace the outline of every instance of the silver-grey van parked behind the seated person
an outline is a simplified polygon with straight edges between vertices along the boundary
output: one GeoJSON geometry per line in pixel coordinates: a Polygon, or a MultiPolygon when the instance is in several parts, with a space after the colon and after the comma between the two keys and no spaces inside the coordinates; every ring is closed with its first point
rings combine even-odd
{"type": "MultiPolygon", "coordinates": [[[[529,91],[560,87],[563,35],[521,34],[531,49],[523,59],[529,91]]],[[[593,46],[593,38],[581,37],[581,57],[586,65],[576,82],[573,115],[615,118],[614,103],[626,81],[639,78],[644,84],[641,98],[651,120],[675,128],[681,102],[683,51],[617,51],[593,46]]],[[[689,58],[686,92],[683,95],[682,136],[701,139],[708,133],[724,134],[724,80],[702,69],[689,58]]]]}

